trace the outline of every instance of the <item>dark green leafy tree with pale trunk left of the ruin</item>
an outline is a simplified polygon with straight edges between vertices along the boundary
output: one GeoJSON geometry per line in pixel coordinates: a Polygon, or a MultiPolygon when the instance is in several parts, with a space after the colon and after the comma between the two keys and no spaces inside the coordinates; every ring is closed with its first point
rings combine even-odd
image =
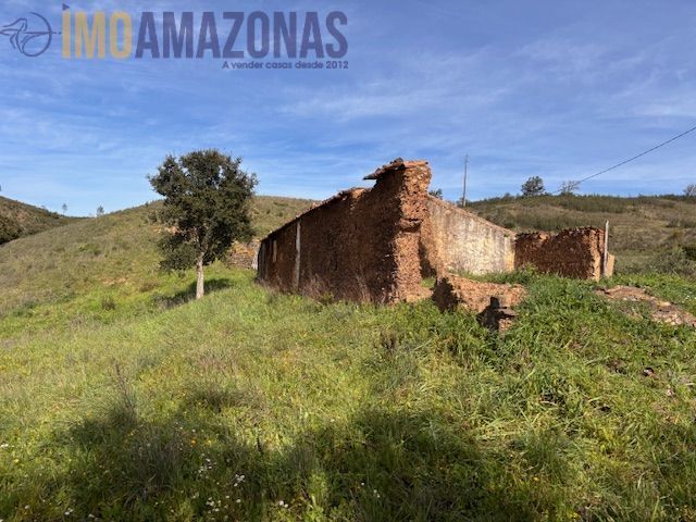
{"type": "Polygon", "coordinates": [[[169,156],[150,176],[164,196],[158,221],[166,226],[159,247],[160,266],[167,271],[196,268],[196,299],[204,295],[203,268],[222,258],[235,240],[252,236],[249,203],[256,176],[243,171],[241,159],[217,150],[181,158],[169,156]]]}

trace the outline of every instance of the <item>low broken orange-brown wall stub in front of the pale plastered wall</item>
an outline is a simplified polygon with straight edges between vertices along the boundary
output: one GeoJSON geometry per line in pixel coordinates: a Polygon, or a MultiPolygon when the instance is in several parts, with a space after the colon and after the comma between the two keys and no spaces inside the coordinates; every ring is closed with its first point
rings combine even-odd
{"type": "Polygon", "coordinates": [[[520,285],[480,283],[463,277],[440,277],[433,290],[433,300],[443,311],[469,310],[492,330],[505,331],[514,321],[517,307],[526,296],[520,285]]]}

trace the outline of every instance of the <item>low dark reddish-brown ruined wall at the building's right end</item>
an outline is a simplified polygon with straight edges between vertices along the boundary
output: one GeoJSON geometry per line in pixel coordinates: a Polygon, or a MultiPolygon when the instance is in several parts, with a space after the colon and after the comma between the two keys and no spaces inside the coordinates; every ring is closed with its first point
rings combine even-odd
{"type": "MultiPolygon", "coordinates": [[[[514,265],[535,266],[539,272],[581,279],[602,276],[605,232],[599,228],[571,228],[559,234],[537,232],[519,234],[515,240],[514,265]]],[[[609,256],[606,275],[613,272],[609,256]]]]}

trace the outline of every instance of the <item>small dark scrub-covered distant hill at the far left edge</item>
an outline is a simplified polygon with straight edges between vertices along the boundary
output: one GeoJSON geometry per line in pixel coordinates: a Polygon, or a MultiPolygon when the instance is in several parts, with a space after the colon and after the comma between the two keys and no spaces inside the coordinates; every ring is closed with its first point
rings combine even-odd
{"type": "Polygon", "coordinates": [[[13,199],[0,197],[0,245],[75,221],[13,199]]]}

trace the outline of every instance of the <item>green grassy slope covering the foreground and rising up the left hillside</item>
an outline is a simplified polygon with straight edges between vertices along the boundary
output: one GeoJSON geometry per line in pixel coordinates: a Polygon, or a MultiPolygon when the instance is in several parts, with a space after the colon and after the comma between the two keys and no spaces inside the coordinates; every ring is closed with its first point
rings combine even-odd
{"type": "MultiPolygon", "coordinates": [[[[307,203],[261,198],[260,234],[307,203]]],[[[692,330],[530,273],[505,336],[220,263],[192,301],[152,210],[0,247],[0,519],[696,520],[692,330]]]]}

